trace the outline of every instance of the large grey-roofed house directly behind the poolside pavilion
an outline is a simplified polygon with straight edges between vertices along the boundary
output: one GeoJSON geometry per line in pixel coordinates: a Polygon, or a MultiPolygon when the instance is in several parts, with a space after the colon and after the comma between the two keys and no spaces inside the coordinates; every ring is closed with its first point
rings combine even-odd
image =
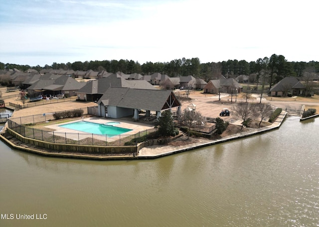
{"type": "Polygon", "coordinates": [[[143,89],[156,89],[145,80],[128,80],[119,74],[112,74],[96,80],[90,80],[85,86],[77,91],[79,100],[96,101],[102,97],[109,87],[130,87],[143,89]]]}

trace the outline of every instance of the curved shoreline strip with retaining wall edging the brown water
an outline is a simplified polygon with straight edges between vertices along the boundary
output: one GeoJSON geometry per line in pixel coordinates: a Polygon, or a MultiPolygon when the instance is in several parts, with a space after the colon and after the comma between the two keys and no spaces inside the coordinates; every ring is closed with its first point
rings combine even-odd
{"type": "Polygon", "coordinates": [[[277,120],[271,124],[270,126],[266,126],[264,128],[259,129],[251,129],[247,132],[241,132],[233,135],[226,136],[225,138],[209,141],[207,139],[200,139],[198,138],[199,142],[188,144],[188,145],[181,145],[181,146],[169,146],[169,145],[156,145],[156,146],[149,146],[142,148],[140,151],[138,151],[138,154],[127,154],[127,155],[93,155],[93,154],[79,154],[79,153],[64,153],[64,152],[48,152],[41,149],[33,149],[28,147],[22,147],[17,146],[13,144],[11,141],[6,139],[3,135],[0,135],[1,141],[3,141],[6,145],[9,147],[29,152],[37,155],[44,155],[44,156],[50,156],[50,157],[63,157],[63,158],[78,158],[78,159],[91,159],[91,160],[125,160],[125,159],[155,159],[160,158],[167,155],[172,155],[175,153],[185,152],[185,151],[191,151],[198,148],[203,148],[207,146],[212,146],[215,144],[220,144],[236,139],[241,139],[248,136],[258,135],[262,133],[269,132],[271,130],[279,129],[282,125],[283,121],[285,120],[287,116],[286,111],[282,111],[281,114],[278,116],[277,120]],[[207,142],[209,141],[209,142],[207,142]],[[174,148],[178,149],[174,149],[174,148]]]}

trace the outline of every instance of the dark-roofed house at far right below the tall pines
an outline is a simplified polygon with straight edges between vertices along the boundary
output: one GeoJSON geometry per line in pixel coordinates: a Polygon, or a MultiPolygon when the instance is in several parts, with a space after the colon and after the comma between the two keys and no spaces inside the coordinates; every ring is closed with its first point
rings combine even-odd
{"type": "Polygon", "coordinates": [[[270,89],[271,96],[288,96],[289,94],[296,96],[306,95],[305,85],[294,76],[283,78],[270,89]]]}

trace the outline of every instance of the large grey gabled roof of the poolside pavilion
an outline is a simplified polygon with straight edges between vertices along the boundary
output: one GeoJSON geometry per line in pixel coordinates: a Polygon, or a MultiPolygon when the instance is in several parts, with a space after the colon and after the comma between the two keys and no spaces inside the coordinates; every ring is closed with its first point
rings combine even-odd
{"type": "Polygon", "coordinates": [[[98,104],[131,109],[161,111],[180,106],[171,90],[148,90],[128,87],[110,87],[99,99],[98,104]]]}

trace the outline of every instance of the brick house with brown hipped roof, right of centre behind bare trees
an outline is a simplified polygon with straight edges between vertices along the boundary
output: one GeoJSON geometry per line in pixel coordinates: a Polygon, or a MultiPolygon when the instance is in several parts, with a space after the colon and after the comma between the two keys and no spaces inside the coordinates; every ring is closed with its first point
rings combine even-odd
{"type": "Polygon", "coordinates": [[[240,93],[243,87],[234,79],[212,79],[204,86],[204,93],[217,94],[221,93],[240,93]]]}

